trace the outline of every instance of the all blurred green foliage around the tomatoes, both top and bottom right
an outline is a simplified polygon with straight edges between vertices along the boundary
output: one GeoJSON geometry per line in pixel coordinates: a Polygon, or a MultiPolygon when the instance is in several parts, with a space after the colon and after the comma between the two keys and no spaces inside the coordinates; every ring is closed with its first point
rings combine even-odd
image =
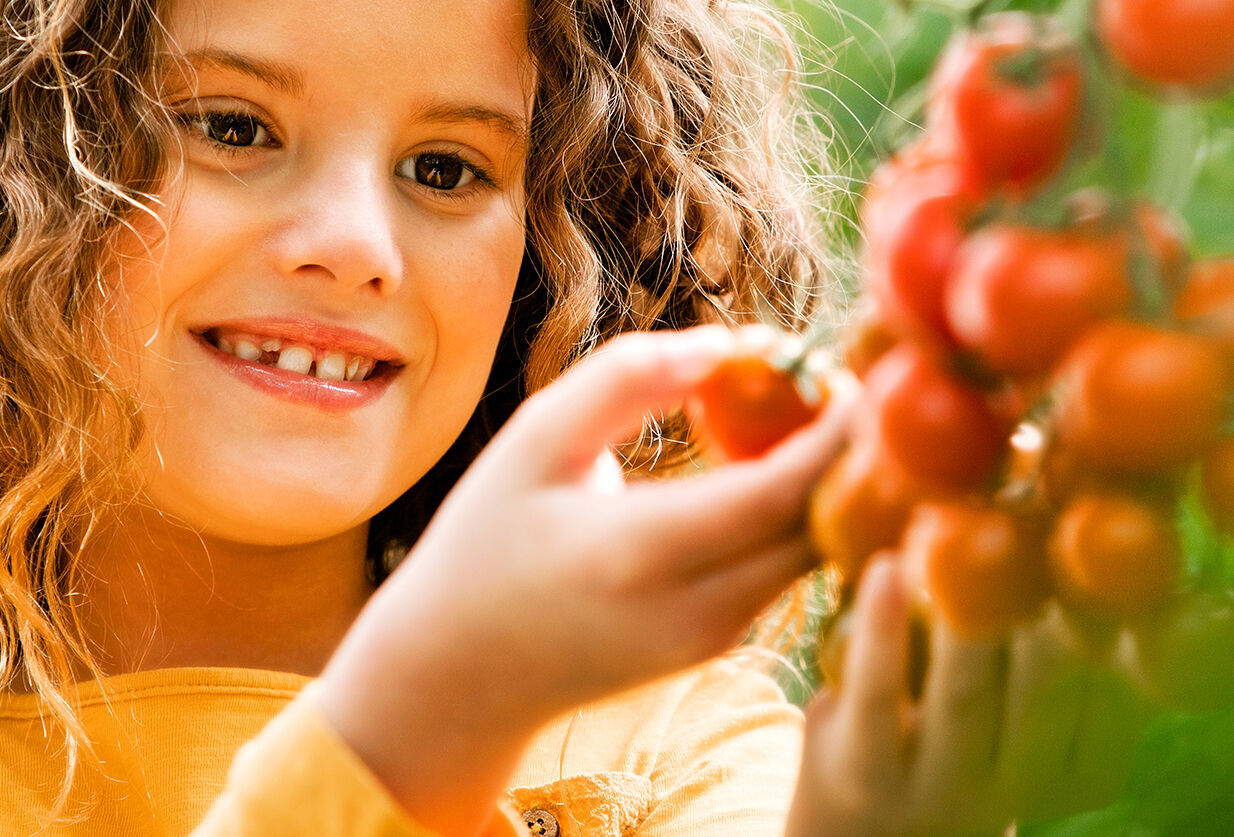
{"type": "MultiPolygon", "coordinates": [[[[827,125],[830,164],[853,184],[845,207],[850,217],[879,160],[922,130],[929,72],[951,33],[976,15],[1055,12],[1101,62],[1086,30],[1090,0],[780,2],[800,21],[810,95],[827,125]]],[[[1234,254],[1234,94],[1204,101],[1162,98],[1106,77],[1093,90],[1093,104],[1106,122],[1102,157],[1072,168],[1051,193],[1083,183],[1117,184],[1178,215],[1196,256],[1234,254]]],[[[1234,543],[1213,532],[1195,501],[1182,504],[1180,527],[1191,581],[1234,584],[1234,543]]],[[[798,659],[806,670],[814,668],[811,651],[798,659]]],[[[792,691],[798,701],[808,695],[801,684],[792,691]]],[[[1234,711],[1157,718],[1122,799],[1060,822],[1022,825],[1018,833],[1234,835],[1234,711]]]]}

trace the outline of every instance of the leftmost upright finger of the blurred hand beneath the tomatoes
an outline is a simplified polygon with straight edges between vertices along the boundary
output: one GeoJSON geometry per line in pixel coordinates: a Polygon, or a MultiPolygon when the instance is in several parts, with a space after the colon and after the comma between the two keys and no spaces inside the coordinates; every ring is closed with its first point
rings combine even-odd
{"type": "Polygon", "coordinates": [[[895,788],[905,775],[902,717],[908,699],[908,598],[895,562],[877,559],[866,569],[853,612],[834,710],[843,758],[858,781],[895,788]]]}

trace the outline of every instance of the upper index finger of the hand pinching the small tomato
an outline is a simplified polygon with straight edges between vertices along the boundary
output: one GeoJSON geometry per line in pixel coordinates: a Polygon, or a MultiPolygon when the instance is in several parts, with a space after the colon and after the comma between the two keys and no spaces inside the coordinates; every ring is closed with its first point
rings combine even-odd
{"type": "Polygon", "coordinates": [[[527,400],[507,447],[533,452],[522,467],[532,480],[574,479],[607,444],[633,435],[648,411],[680,404],[734,344],[721,326],[610,341],[527,400]]]}

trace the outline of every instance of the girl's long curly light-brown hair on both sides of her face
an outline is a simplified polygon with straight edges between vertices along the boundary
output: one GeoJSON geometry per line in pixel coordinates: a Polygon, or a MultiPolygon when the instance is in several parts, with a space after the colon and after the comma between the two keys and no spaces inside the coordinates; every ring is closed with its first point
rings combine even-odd
{"type": "MultiPolygon", "coordinates": [[[[167,177],[165,2],[6,0],[0,30],[0,690],[42,696],[69,777],[88,747],[73,673],[99,670],[70,606],[75,560],[143,432],[101,323],[114,237],[167,177]]],[[[602,341],[755,319],[801,330],[828,295],[807,175],[821,146],[801,144],[793,49],[765,9],[528,0],[528,21],[516,301],[466,430],[373,520],[375,580],[518,402],[602,341]]],[[[680,416],[649,430],[624,451],[632,472],[691,456],[680,416]]]]}

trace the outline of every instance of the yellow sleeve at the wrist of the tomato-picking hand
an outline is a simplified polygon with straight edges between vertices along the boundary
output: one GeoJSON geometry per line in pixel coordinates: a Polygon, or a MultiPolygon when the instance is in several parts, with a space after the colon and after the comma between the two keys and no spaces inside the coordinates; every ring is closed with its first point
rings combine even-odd
{"type": "MultiPolygon", "coordinates": [[[[244,744],[191,837],[437,837],[413,822],[317,709],[310,684],[244,744]]],[[[513,831],[503,816],[489,835],[513,831]]]]}

